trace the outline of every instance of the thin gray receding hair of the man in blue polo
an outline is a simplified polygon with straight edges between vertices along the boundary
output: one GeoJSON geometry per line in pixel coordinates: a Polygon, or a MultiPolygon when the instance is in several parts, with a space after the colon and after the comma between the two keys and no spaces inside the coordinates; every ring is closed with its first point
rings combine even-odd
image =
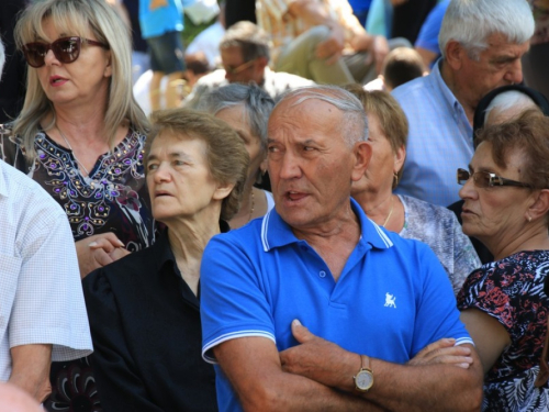
{"type": "Polygon", "coordinates": [[[344,115],[341,136],[349,147],[352,147],[355,143],[368,140],[368,118],[366,116],[365,108],[360,100],[349,91],[330,85],[306,86],[285,91],[278,99],[274,109],[282,102],[294,98],[296,100],[291,107],[299,105],[306,100],[316,99],[339,109],[344,115]]]}

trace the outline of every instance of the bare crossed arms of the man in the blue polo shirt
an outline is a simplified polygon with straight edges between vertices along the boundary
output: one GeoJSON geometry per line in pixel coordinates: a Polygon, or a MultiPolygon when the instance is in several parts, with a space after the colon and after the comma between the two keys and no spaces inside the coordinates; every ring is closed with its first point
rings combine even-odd
{"type": "Polygon", "coordinates": [[[245,411],[480,409],[482,366],[471,345],[452,349],[452,359],[440,360],[439,343],[407,365],[371,359],[374,385],[362,393],[352,379],[361,365],[358,354],[314,336],[299,323],[292,323],[292,332],[301,345],[280,354],[262,337],[227,341],[214,348],[245,411]]]}

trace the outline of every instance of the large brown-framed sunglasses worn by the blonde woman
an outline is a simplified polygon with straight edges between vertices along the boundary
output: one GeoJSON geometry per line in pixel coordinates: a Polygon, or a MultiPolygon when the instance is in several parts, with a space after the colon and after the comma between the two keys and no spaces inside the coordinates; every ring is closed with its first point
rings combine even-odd
{"type": "Polygon", "coordinates": [[[53,43],[27,43],[23,46],[26,63],[31,67],[42,67],[45,65],[45,57],[49,49],[54,52],[55,58],[61,63],[72,63],[80,56],[81,44],[86,43],[90,46],[99,46],[109,49],[109,46],[94,40],[81,37],[61,37],[53,43]]]}

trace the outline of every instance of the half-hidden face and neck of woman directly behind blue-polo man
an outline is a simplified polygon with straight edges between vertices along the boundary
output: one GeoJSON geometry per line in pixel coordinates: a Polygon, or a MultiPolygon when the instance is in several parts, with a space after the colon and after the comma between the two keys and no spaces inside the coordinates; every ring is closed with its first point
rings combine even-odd
{"type": "MultiPolygon", "coordinates": [[[[403,154],[395,154],[391,143],[383,133],[378,116],[368,113],[368,141],[372,146],[372,157],[365,176],[352,182],[351,194],[361,191],[382,192],[391,191],[393,174],[401,169],[404,162],[403,154]]],[[[404,153],[404,152],[403,152],[404,153]]]]}

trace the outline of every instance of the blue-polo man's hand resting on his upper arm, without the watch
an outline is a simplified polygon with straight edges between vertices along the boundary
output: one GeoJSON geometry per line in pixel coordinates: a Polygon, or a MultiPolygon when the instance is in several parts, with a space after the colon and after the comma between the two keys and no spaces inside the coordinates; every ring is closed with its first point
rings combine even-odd
{"type": "Polygon", "coordinates": [[[453,338],[441,338],[425,346],[419,353],[408,360],[406,365],[425,366],[435,364],[451,364],[463,369],[469,369],[473,363],[471,349],[467,346],[456,345],[453,338]]]}

